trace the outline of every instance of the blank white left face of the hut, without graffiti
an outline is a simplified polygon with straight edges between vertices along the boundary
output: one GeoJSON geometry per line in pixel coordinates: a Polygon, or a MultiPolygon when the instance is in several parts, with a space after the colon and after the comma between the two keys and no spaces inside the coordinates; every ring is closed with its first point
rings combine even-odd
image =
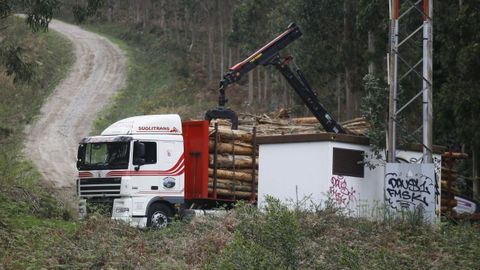
{"type": "Polygon", "coordinates": [[[262,144],[259,150],[258,200],[270,195],[284,202],[310,197],[324,200],[332,168],[329,142],[262,144]]]}

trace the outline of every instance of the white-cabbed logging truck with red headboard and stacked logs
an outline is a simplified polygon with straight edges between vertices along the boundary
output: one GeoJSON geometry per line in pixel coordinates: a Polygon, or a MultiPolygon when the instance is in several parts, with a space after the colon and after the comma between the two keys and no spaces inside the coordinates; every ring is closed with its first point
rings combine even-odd
{"type": "Polygon", "coordinates": [[[250,133],[178,115],[130,117],[80,141],[79,210],[104,205],[113,219],[164,227],[186,209],[254,202],[256,160],[250,133]]]}

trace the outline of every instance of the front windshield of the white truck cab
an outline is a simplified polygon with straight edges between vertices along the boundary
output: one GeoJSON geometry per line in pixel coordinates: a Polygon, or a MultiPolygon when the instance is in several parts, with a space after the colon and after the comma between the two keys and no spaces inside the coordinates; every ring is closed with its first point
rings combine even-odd
{"type": "Polygon", "coordinates": [[[129,142],[85,143],[78,149],[80,170],[127,169],[129,142]]]}

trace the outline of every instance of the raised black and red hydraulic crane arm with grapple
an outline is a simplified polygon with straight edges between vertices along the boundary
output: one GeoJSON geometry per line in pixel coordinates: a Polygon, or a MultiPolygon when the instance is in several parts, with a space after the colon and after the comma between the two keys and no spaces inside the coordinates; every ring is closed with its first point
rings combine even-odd
{"type": "Polygon", "coordinates": [[[205,119],[227,118],[232,120],[232,128],[238,126],[238,118],[234,111],[225,108],[228,101],[225,97],[225,89],[229,84],[235,83],[240,78],[256,68],[258,65],[273,65],[285,77],[290,86],[297,92],[307,108],[318,119],[320,124],[327,132],[346,133],[345,130],[333,119],[322,104],[318,101],[317,95],[310,87],[309,83],[302,75],[300,70],[292,71],[288,65],[292,57],[280,58],[279,52],[288,44],[295,41],[302,35],[302,32],[295,24],[290,24],[282,34],[267,43],[261,49],[257,50],[251,56],[229,69],[220,81],[218,108],[209,110],[205,114],[205,119]]]}

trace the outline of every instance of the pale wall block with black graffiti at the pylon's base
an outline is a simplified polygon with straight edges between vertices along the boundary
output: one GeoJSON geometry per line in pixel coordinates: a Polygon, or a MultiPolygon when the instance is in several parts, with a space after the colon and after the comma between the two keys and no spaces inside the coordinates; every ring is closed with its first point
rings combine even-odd
{"type": "Polygon", "coordinates": [[[439,195],[433,164],[394,164],[385,173],[385,201],[396,210],[435,212],[439,195]]]}

